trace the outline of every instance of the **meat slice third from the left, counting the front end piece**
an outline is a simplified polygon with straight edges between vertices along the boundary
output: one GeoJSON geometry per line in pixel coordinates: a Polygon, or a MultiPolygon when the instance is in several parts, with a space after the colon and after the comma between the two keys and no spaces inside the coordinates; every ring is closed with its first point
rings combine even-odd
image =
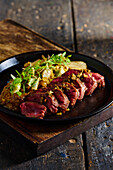
{"type": "Polygon", "coordinates": [[[63,91],[61,89],[54,89],[53,93],[55,95],[55,97],[57,98],[57,101],[59,103],[59,108],[60,110],[65,113],[65,111],[67,110],[70,101],[68,100],[68,97],[63,93],[63,91]]]}

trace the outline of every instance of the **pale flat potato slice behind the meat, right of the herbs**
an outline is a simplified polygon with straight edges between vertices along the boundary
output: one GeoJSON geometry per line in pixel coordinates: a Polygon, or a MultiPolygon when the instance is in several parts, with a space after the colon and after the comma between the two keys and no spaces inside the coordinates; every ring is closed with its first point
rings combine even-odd
{"type": "Polygon", "coordinates": [[[71,61],[68,66],[71,69],[77,70],[87,69],[87,64],[83,61],[71,61]]]}

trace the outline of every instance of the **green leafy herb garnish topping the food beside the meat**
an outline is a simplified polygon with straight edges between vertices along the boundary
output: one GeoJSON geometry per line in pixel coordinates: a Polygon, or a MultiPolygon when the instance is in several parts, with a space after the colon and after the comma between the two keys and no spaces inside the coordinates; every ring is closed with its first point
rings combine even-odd
{"type": "MultiPolygon", "coordinates": [[[[31,63],[31,65],[23,68],[21,73],[15,70],[17,73],[17,77],[11,74],[11,77],[13,79],[13,81],[11,81],[10,83],[11,94],[17,93],[19,96],[21,96],[23,93],[26,92],[28,86],[30,89],[36,90],[38,88],[39,81],[43,80],[43,78],[46,77],[45,75],[43,77],[44,70],[49,70],[49,72],[52,74],[53,71],[55,72],[56,66],[59,66],[61,70],[64,66],[67,66],[67,64],[70,62],[69,57],[71,57],[71,55],[68,55],[67,57],[65,56],[66,52],[60,54],[52,54],[52,56],[48,56],[48,58],[42,56],[42,59],[39,59],[34,65],[32,65],[31,63]]],[[[47,72],[48,71],[46,71],[45,73],[47,74],[47,72]]],[[[63,72],[65,71],[63,70],[63,72]]],[[[55,76],[58,75],[58,70],[56,71],[56,73],[57,74],[55,76]]],[[[47,79],[48,78],[50,77],[47,77],[47,79]]]]}

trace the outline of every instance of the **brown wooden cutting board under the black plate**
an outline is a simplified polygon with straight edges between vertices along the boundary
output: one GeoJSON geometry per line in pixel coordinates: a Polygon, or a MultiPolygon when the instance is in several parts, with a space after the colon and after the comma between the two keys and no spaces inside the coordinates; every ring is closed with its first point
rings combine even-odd
{"type": "MultiPolygon", "coordinates": [[[[16,54],[42,50],[68,49],[12,20],[0,21],[0,61],[16,54]]],[[[0,112],[0,119],[3,122],[36,146],[37,155],[53,149],[112,116],[113,105],[87,119],[68,124],[48,125],[18,120],[16,117],[0,112]]]]}

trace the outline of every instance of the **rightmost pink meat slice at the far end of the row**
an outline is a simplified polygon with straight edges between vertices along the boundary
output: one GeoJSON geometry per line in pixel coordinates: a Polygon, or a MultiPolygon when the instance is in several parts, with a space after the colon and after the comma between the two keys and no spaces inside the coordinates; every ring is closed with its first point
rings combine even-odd
{"type": "Polygon", "coordinates": [[[91,72],[91,74],[97,80],[99,88],[105,87],[104,76],[100,75],[99,73],[93,73],[93,72],[91,72]]]}

